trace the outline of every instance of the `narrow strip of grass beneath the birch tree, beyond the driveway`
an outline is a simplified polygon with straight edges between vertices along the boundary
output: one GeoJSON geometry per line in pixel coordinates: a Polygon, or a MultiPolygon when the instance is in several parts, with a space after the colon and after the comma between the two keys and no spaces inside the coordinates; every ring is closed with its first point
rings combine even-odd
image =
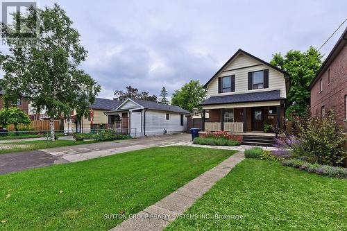
{"type": "Polygon", "coordinates": [[[3,143],[3,144],[26,144],[28,146],[16,147],[16,148],[10,148],[10,149],[0,149],[0,154],[14,153],[19,151],[31,151],[31,150],[37,150],[37,149],[43,149],[43,148],[54,148],[54,147],[60,147],[60,146],[72,146],[72,145],[78,145],[78,144],[92,144],[92,143],[95,143],[95,141],[74,141],[74,140],[65,140],[65,139],[58,139],[55,142],[51,142],[51,141],[46,142],[46,140],[37,140],[37,141],[28,141],[28,142],[9,142],[9,143],[3,143]]]}

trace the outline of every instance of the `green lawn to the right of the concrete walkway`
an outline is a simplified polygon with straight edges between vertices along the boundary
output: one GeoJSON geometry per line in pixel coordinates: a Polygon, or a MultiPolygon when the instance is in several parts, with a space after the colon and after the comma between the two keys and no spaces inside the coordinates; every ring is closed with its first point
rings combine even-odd
{"type": "Polygon", "coordinates": [[[167,230],[346,230],[346,183],[246,159],[187,211],[243,219],[178,219],[167,230]]]}

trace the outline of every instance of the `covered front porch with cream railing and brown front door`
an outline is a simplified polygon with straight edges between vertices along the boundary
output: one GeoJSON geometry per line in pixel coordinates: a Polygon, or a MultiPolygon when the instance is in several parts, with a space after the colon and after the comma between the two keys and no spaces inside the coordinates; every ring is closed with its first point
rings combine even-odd
{"type": "MultiPolygon", "coordinates": [[[[268,104],[249,104],[235,107],[232,104],[203,107],[203,130],[217,132],[264,132],[266,125],[280,128],[284,131],[284,103],[270,102],[268,104]],[[205,119],[204,114],[209,113],[205,119]]],[[[269,130],[271,132],[271,130],[269,130]]]]}

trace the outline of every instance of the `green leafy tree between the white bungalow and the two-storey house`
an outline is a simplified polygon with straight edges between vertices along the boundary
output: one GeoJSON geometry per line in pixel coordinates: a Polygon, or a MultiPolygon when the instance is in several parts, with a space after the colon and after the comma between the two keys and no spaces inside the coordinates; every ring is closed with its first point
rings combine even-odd
{"type": "Polygon", "coordinates": [[[206,91],[200,81],[190,80],[189,83],[174,92],[171,104],[193,112],[193,108],[201,108],[199,104],[203,102],[205,97],[206,91]]]}

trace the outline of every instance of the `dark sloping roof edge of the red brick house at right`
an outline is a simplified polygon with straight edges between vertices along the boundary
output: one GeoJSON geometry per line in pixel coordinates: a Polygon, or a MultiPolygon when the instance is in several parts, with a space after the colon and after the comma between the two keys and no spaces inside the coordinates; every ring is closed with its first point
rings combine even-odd
{"type": "Polygon", "coordinates": [[[339,54],[342,48],[347,44],[347,27],[344,30],[344,33],[339,37],[339,40],[337,40],[337,43],[330,51],[327,58],[324,60],[324,62],[321,65],[321,68],[317,72],[316,76],[314,76],[314,79],[310,83],[310,89],[312,89],[314,83],[321,77],[321,75],[325,72],[325,70],[329,67],[331,62],[336,58],[336,56],[339,54]]]}

